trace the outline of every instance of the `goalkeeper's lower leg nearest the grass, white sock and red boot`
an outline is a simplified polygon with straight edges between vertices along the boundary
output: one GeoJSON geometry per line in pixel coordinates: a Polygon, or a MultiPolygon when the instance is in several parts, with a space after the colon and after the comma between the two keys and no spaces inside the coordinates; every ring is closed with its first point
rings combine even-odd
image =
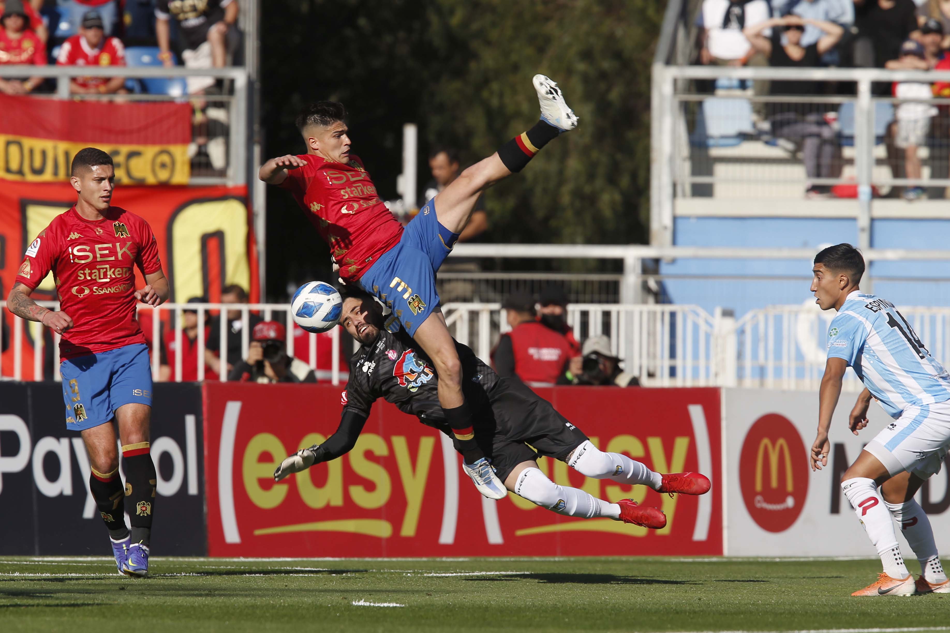
{"type": "Polygon", "coordinates": [[[656,508],[637,506],[633,499],[610,503],[577,488],[561,486],[544,475],[538,462],[523,461],[504,479],[512,493],[551,512],[564,516],[593,519],[599,516],[659,530],[666,526],[666,515],[656,508]]]}

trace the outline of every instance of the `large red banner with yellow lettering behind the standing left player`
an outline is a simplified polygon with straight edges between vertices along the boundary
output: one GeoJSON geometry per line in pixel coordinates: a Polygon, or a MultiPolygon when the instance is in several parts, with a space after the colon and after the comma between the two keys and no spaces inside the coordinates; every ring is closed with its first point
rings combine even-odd
{"type": "MultiPolygon", "coordinates": [[[[7,297],[29,243],[75,201],[76,192],[66,182],[0,180],[0,297],[7,297]]],[[[207,297],[217,302],[220,289],[229,284],[248,289],[250,300],[258,301],[257,247],[246,187],[119,187],[112,201],[152,227],[162,270],[171,281],[171,301],[207,297]]],[[[136,288],[142,285],[137,270],[136,288]]],[[[52,275],[32,296],[56,298],[52,275]]],[[[28,339],[40,330],[34,324],[28,339]]],[[[12,355],[10,346],[0,357],[0,375],[12,375],[12,355]]],[[[25,345],[24,380],[32,380],[32,374],[32,350],[25,345]]]]}

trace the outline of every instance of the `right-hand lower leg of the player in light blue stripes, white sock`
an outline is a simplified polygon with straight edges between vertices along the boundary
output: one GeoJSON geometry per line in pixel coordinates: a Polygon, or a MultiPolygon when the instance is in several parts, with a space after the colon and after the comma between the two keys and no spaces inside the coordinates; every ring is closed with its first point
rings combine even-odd
{"type": "Polygon", "coordinates": [[[896,475],[884,482],[881,495],[891,516],[901,526],[901,533],[907,539],[907,545],[914,550],[921,564],[921,575],[917,577],[918,593],[950,593],[950,580],[947,580],[937,542],[930,519],[915,499],[914,495],[923,485],[923,479],[911,473],[896,475]]]}

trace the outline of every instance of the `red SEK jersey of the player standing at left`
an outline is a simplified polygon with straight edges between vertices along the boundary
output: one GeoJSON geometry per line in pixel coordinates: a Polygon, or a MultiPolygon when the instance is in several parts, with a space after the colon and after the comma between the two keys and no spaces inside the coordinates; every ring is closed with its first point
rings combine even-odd
{"type": "Polygon", "coordinates": [[[96,221],[73,207],[29,245],[16,281],[35,289],[52,270],[60,309],[73,322],[60,342],[61,359],[145,343],[135,320],[133,265],[142,275],[161,270],[159,247],[148,223],[119,207],[96,221]]]}

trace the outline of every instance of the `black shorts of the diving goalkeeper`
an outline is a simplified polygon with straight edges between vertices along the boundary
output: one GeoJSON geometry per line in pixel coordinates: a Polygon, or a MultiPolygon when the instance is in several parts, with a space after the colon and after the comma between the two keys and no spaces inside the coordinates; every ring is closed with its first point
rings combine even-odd
{"type": "Polygon", "coordinates": [[[518,379],[501,379],[488,398],[495,421],[491,446],[485,436],[480,438],[477,423],[475,437],[503,483],[523,461],[537,459],[539,455],[563,461],[587,439],[550,402],[518,379]]]}

